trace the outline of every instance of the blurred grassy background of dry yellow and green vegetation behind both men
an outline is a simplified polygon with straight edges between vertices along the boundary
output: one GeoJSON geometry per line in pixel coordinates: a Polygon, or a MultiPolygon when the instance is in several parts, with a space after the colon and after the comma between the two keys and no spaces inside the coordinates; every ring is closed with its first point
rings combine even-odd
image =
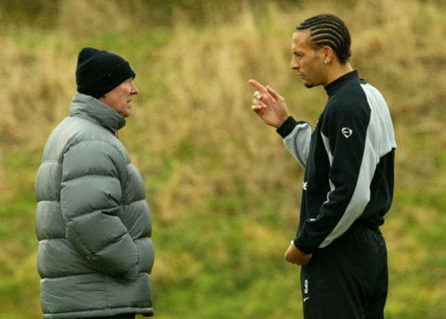
{"type": "Polygon", "coordinates": [[[353,67],[395,124],[386,318],[446,318],[444,0],[0,0],[0,318],[41,318],[34,179],[85,46],[137,73],[119,138],[152,209],[156,318],[301,318],[299,269],[283,254],[303,170],[250,110],[247,81],[314,123],[327,97],[290,71],[290,47],[321,12],[346,21],[353,67]]]}

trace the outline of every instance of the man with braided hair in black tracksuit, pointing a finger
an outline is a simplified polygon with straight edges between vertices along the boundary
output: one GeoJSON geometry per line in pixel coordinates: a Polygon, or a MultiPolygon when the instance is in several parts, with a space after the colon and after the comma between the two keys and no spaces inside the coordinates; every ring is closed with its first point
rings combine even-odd
{"type": "Polygon", "coordinates": [[[294,120],[283,97],[250,80],[259,90],[253,110],[305,168],[298,231],[285,253],[303,265],[305,318],[384,318],[388,267],[379,226],[392,203],[397,144],[386,101],[351,68],[350,43],[331,14],[296,27],[291,67],[329,97],[316,127],[294,120]]]}

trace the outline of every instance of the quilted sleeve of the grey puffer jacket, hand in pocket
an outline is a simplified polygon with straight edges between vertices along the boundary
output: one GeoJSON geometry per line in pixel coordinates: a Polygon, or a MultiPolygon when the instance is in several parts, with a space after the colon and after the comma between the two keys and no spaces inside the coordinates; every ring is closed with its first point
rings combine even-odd
{"type": "Polygon", "coordinates": [[[100,272],[132,280],[137,248],[117,216],[126,175],[126,159],[113,146],[79,142],[64,155],[60,205],[67,240],[100,272]]]}

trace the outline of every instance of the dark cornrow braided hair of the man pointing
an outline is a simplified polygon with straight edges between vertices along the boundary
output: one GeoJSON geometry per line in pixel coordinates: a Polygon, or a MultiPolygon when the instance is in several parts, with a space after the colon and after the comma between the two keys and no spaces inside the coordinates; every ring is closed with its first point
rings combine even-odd
{"type": "Polygon", "coordinates": [[[294,30],[309,31],[309,46],[320,49],[328,45],[335,51],[341,64],[346,64],[351,57],[351,38],[349,29],[338,16],[334,14],[318,14],[303,21],[294,30]]]}

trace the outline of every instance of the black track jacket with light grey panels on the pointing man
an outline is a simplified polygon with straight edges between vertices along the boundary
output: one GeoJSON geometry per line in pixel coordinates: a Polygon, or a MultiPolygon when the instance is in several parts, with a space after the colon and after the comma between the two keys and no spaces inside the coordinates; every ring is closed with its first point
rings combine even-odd
{"type": "Polygon", "coordinates": [[[393,196],[397,144],[382,94],[357,71],[325,90],[329,99],[313,132],[292,117],[277,129],[305,168],[294,239],[303,253],[329,245],[354,222],[378,229],[393,196]]]}

